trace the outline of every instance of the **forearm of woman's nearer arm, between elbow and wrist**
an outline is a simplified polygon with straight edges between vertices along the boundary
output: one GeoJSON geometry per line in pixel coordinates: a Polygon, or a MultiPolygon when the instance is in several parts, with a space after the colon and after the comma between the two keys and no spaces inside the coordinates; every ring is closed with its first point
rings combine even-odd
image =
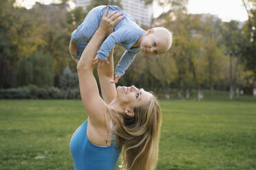
{"type": "Polygon", "coordinates": [[[105,33],[100,31],[100,29],[96,30],[96,32],[94,33],[94,36],[92,36],[92,39],[89,41],[89,43],[85,47],[85,50],[83,51],[82,56],[77,64],[76,69],[78,73],[84,72],[84,71],[92,72],[94,70],[94,65],[92,65],[92,62],[105,36],[106,36],[105,33]]]}

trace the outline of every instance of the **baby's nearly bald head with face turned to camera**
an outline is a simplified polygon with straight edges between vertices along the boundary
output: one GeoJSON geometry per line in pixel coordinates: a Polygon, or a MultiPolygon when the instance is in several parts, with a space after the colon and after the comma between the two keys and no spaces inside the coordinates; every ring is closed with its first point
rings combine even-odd
{"type": "Polygon", "coordinates": [[[140,49],[147,56],[165,53],[171,47],[172,35],[164,27],[154,27],[142,36],[140,49]]]}

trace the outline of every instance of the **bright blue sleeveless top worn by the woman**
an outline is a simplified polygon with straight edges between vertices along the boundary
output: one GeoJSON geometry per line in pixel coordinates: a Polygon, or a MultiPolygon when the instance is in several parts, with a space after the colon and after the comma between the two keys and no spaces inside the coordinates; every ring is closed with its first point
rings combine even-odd
{"type": "Polygon", "coordinates": [[[89,141],[87,137],[86,120],[70,141],[70,151],[73,157],[75,170],[114,170],[121,149],[114,143],[114,136],[110,146],[98,146],[89,141]]]}

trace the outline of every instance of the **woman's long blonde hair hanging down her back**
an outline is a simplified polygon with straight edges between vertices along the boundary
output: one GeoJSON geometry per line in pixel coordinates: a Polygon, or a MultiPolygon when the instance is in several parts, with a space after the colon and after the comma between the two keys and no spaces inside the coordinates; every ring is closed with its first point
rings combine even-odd
{"type": "Polygon", "coordinates": [[[156,97],[148,104],[134,108],[134,117],[118,113],[107,106],[109,117],[115,123],[116,142],[122,147],[122,168],[126,170],[153,170],[158,160],[158,143],[162,115],[156,97]]]}

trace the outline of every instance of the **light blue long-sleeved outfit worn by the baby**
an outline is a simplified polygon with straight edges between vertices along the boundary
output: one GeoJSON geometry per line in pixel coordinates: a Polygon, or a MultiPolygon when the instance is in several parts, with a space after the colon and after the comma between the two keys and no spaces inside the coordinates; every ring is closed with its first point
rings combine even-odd
{"type": "MultiPolygon", "coordinates": [[[[73,56],[75,58],[81,58],[83,49],[85,49],[89,40],[94,35],[94,32],[98,29],[100,20],[104,14],[107,6],[100,5],[92,9],[81,25],[78,26],[74,32],[72,32],[72,40],[78,43],[77,50],[78,56],[73,56]]],[[[125,53],[120,58],[118,65],[116,66],[116,74],[121,77],[125,74],[125,71],[131,65],[136,55],[140,52],[139,47],[131,48],[137,40],[145,34],[145,30],[140,28],[134,21],[133,17],[125,12],[123,12],[118,6],[109,5],[109,12],[112,11],[121,12],[125,16],[122,21],[120,21],[115,27],[114,32],[111,33],[104,40],[100,49],[97,52],[97,57],[102,60],[107,60],[111,49],[113,49],[116,44],[124,47],[126,49],[125,53]]]]}

